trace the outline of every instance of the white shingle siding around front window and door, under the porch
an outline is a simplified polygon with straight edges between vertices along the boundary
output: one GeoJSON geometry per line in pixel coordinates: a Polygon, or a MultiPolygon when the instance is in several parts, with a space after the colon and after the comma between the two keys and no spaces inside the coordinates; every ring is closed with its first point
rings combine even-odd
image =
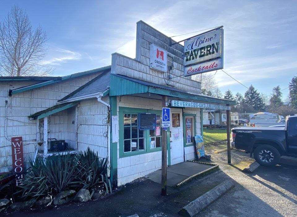
{"type": "MultiPolygon", "coordinates": [[[[121,101],[117,98],[118,107],[162,109],[162,101],[147,99],[135,96],[122,96],[121,101]]],[[[117,110],[118,111],[118,110],[117,110]]],[[[200,109],[184,109],[184,113],[196,114],[196,133],[201,133],[200,109]]],[[[185,147],[185,160],[195,158],[194,147],[185,147]]],[[[143,177],[161,168],[161,151],[145,153],[141,155],[127,156],[119,158],[118,143],[118,186],[131,182],[139,177],[143,177]]]]}

